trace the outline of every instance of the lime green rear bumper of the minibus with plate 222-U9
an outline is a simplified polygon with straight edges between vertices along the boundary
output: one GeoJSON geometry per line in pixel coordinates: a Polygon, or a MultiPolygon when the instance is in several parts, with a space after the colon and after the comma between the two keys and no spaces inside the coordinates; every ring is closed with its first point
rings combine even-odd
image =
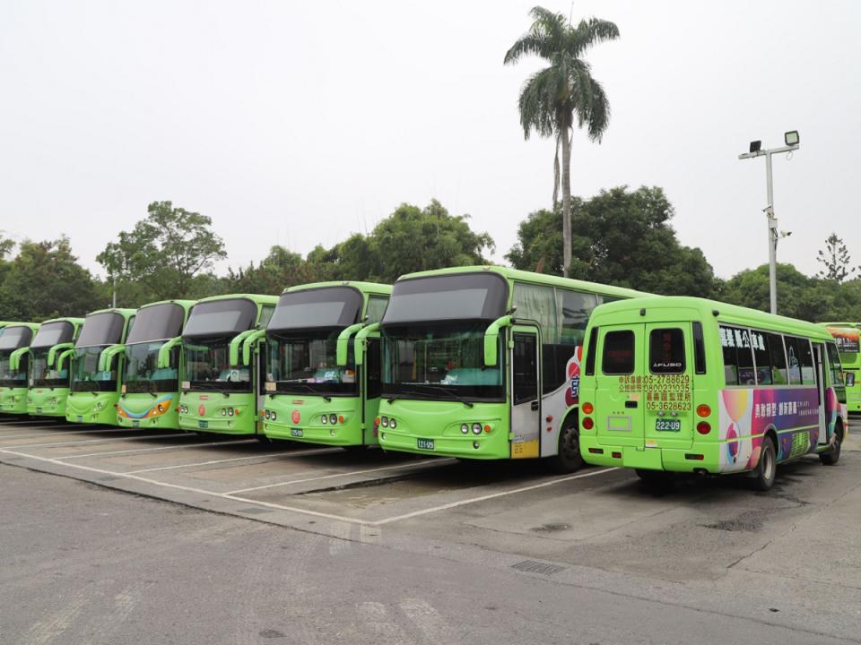
{"type": "Polygon", "coordinates": [[[580,437],[580,454],[588,464],[667,472],[719,472],[718,443],[697,445],[688,450],[637,448],[598,443],[596,437],[580,437]]]}

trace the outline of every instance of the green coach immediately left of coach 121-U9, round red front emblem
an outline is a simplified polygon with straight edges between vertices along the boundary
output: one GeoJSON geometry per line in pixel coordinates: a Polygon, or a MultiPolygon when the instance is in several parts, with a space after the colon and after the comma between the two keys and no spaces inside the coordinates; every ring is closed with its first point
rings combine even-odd
{"type": "Polygon", "coordinates": [[[320,282],[284,290],[266,327],[263,427],[272,439],[377,444],[379,331],[392,288],[320,282]],[[367,348],[357,365],[353,346],[367,348]]]}

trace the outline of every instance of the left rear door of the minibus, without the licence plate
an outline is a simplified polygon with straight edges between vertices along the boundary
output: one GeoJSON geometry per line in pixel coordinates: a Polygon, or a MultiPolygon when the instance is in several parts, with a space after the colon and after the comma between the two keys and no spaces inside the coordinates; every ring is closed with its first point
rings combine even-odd
{"type": "Polygon", "coordinates": [[[601,327],[595,369],[598,443],[643,450],[645,324],[601,327]],[[639,376],[639,381],[638,381],[639,376]]]}

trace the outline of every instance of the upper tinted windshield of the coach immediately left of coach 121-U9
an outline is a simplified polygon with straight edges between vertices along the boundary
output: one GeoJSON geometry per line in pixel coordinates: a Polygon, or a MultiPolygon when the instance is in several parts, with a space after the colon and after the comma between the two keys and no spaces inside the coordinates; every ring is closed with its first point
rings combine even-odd
{"type": "Polygon", "coordinates": [[[359,320],[361,293],[350,287],[313,288],[283,294],[272,320],[270,331],[346,327],[359,320]]]}

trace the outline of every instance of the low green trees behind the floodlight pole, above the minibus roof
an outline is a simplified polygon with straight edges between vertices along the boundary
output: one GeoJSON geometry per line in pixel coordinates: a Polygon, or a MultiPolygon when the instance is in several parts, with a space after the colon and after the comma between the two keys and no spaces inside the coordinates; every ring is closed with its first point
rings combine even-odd
{"type": "MultiPolygon", "coordinates": [[[[840,284],[810,278],[792,264],[777,265],[778,314],[813,323],[825,320],[861,320],[861,280],[840,284]]],[[[737,273],[726,281],[721,299],[769,311],[769,266],[737,273]]]]}

